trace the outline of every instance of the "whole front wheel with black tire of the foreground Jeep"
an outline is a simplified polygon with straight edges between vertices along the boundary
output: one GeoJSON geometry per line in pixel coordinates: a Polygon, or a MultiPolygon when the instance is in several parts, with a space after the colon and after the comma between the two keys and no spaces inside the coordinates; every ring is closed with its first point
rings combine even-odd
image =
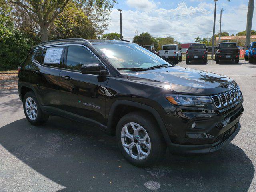
{"type": "Polygon", "coordinates": [[[117,124],[118,147],[133,165],[145,167],[156,164],[166,152],[164,138],[152,119],[146,113],[131,112],[117,124]]]}

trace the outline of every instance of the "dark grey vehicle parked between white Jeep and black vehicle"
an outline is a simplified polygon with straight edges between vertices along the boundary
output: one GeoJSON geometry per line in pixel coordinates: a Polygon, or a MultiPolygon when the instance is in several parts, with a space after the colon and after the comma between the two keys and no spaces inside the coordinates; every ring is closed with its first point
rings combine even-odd
{"type": "Polygon", "coordinates": [[[190,61],[202,61],[207,63],[205,44],[190,44],[186,52],[186,64],[189,64],[190,61]]]}

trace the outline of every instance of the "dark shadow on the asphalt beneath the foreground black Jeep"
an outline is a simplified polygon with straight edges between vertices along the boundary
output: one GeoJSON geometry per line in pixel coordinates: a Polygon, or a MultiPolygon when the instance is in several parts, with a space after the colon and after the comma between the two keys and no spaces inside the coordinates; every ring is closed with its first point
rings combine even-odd
{"type": "Polygon", "coordinates": [[[59,192],[241,192],[248,190],[254,176],[251,160],[234,144],[200,156],[167,152],[160,164],[138,168],[124,160],[115,138],[60,117],[50,117],[44,126],[32,126],[25,118],[3,126],[0,144],[38,173],[64,186],[59,192]]]}

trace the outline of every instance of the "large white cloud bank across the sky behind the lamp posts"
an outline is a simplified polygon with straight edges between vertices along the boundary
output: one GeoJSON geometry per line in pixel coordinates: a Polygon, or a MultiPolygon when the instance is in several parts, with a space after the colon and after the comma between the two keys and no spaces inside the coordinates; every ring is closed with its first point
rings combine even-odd
{"type": "MultiPolygon", "coordinates": [[[[139,0],[138,0],[139,1],[139,0]]],[[[214,4],[200,3],[195,7],[187,7],[182,2],[175,9],[154,8],[150,10],[123,10],[122,26],[124,39],[132,41],[135,31],[138,33],[149,32],[153,37],[172,36],[184,43],[194,42],[194,38],[211,37],[214,17],[214,4]]],[[[120,33],[120,20],[116,9],[112,10],[108,32],[120,33]]],[[[236,34],[246,29],[247,6],[239,8],[224,7],[222,13],[222,31],[236,34]]],[[[255,30],[256,14],[254,14],[252,29],[255,30]]],[[[216,30],[219,30],[220,7],[217,8],[216,30]]]]}

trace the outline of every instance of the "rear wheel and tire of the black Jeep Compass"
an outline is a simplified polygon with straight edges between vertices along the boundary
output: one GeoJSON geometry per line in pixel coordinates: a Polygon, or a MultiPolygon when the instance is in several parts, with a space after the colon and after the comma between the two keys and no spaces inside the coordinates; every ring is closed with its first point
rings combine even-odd
{"type": "Polygon", "coordinates": [[[32,125],[44,124],[49,116],[42,112],[34,92],[27,92],[23,98],[23,110],[32,125]]]}

